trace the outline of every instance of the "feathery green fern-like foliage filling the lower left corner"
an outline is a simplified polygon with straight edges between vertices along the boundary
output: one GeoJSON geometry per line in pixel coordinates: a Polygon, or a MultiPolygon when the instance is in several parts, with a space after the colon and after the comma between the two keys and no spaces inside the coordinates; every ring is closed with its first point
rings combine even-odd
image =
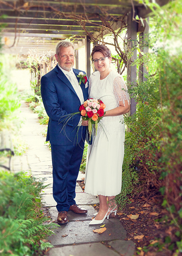
{"type": "Polygon", "coordinates": [[[53,224],[45,225],[41,210],[43,182],[23,173],[0,173],[0,248],[2,256],[42,255],[53,247],[43,242],[53,233],[53,224]]]}

